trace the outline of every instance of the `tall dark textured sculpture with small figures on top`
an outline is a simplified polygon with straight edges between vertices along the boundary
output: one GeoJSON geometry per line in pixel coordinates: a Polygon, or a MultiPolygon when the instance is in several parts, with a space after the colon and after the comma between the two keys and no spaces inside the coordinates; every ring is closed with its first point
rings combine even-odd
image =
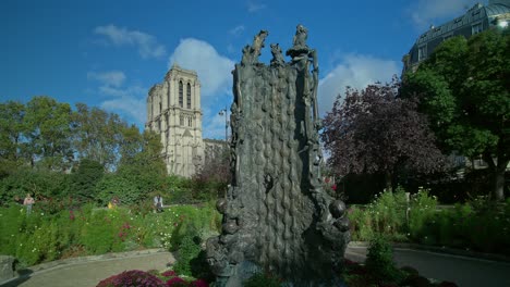
{"type": "Polygon", "coordinates": [[[207,241],[216,286],[238,287],[255,272],[289,286],[338,286],[349,242],[345,204],[324,189],[318,141],[317,52],[298,25],[286,63],[271,45],[270,65],[258,62],[260,30],[232,72],[232,182],[217,209],[221,234],[207,241]],[[309,71],[312,66],[312,71],[309,71]]]}

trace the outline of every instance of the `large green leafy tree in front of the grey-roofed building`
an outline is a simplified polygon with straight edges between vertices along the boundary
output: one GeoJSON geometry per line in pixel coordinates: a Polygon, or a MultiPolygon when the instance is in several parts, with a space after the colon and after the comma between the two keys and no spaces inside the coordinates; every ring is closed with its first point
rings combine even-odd
{"type": "Polygon", "coordinates": [[[483,157],[494,200],[505,199],[510,162],[509,90],[510,33],[493,29],[445,41],[404,76],[402,87],[402,95],[421,97],[421,110],[446,152],[483,157]]]}

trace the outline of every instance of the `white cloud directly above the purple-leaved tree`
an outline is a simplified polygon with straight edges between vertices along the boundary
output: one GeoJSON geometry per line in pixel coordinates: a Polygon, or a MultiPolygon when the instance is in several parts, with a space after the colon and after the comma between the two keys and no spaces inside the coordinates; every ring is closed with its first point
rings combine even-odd
{"type": "Polygon", "coordinates": [[[343,93],[347,86],[363,89],[376,82],[389,82],[394,74],[400,74],[396,61],[361,54],[344,55],[341,63],[319,80],[319,113],[324,115],[330,111],[337,96],[343,93]]]}

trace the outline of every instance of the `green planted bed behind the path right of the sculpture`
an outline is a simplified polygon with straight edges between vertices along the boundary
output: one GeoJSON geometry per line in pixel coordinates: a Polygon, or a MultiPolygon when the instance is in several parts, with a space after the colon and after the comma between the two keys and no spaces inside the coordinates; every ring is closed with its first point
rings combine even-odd
{"type": "Polygon", "coordinates": [[[510,254],[510,200],[495,204],[474,199],[439,209],[437,199],[422,189],[411,196],[408,221],[405,208],[397,203],[401,200],[398,194],[385,192],[365,209],[351,207],[352,239],[368,241],[381,235],[392,241],[510,254]]]}

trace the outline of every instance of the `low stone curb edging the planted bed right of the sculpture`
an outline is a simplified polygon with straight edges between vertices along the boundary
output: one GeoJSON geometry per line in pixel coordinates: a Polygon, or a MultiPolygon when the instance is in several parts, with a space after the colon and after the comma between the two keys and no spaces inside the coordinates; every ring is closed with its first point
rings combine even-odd
{"type": "MultiPolygon", "coordinates": [[[[445,254],[451,254],[451,255],[461,255],[461,257],[473,258],[473,259],[484,259],[484,260],[510,263],[510,258],[506,255],[501,255],[501,254],[484,253],[484,252],[456,249],[456,248],[449,248],[449,247],[425,246],[425,245],[404,244],[404,242],[393,242],[391,244],[391,246],[393,248],[414,249],[414,250],[429,251],[429,252],[435,252],[435,253],[445,253],[445,254]]],[[[348,247],[368,248],[368,242],[367,241],[351,241],[349,242],[348,247]]]]}

